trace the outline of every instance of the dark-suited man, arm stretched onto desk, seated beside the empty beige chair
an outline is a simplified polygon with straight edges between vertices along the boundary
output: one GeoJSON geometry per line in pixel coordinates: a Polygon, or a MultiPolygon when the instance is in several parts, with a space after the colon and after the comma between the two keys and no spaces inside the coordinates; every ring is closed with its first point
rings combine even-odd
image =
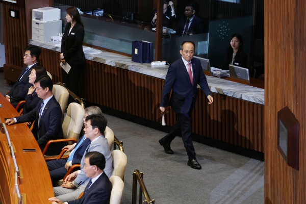
{"type": "MultiPolygon", "coordinates": [[[[41,149],[44,149],[49,140],[63,139],[62,129],[62,109],[52,93],[53,83],[48,75],[42,75],[35,80],[36,93],[42,98],[42,103],[38,104],[30,113],[16,118],[7,119],[6,124],[12,125],[21,122],[33,122],[35,120],[32,133],[41,149]]],[[[62,150],[60,143],[50,144],[45,155],[56,155],[62,150]]]]}

